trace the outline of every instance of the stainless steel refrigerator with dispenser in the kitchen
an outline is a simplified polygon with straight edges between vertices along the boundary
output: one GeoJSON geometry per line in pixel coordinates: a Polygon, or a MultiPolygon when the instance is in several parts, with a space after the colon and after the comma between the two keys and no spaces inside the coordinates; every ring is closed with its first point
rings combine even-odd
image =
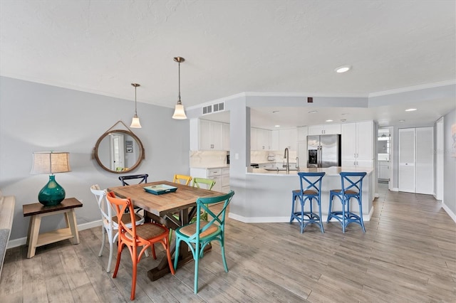
{"type": "Polygon", "coordinates": [[[341,135],[307,136],[307,167],[341,166],[341,135]]]}

